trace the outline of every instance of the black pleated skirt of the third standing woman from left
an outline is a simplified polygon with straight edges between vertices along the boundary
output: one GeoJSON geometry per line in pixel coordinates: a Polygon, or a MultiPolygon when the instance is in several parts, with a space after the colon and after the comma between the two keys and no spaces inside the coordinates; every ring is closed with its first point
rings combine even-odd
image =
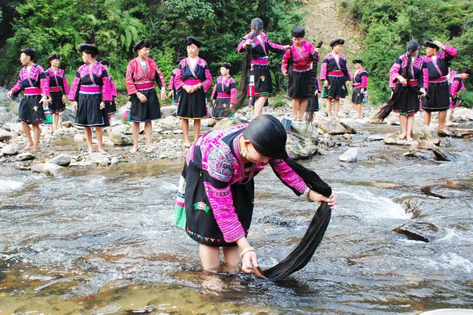
{"type": "Polygon", "coordinates": [[[79,102],[77,104],[77,116],[75,116],[75,125],[84,127],[110,126],[105,108],[103,110],[100,109],[101,101],[101,93],[80,93],[79,102]]]}

